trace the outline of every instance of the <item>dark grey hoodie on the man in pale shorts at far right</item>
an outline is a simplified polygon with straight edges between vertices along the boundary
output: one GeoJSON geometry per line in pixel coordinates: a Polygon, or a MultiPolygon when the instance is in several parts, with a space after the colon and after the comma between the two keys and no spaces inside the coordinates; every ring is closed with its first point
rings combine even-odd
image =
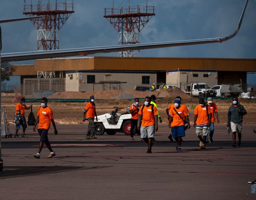
{"type": "Polygon", "coordinates": [[[243,122],[243,115],[246,115],[247,111],[241,104],[237,104],[237,107],[234,107],[234,104],[232,104],[228,109],[228,124],[230,122],[234,122],[236,124],[243,122]],[[238,113],[237,110],[241,109],[242,113],[238,113]]]}

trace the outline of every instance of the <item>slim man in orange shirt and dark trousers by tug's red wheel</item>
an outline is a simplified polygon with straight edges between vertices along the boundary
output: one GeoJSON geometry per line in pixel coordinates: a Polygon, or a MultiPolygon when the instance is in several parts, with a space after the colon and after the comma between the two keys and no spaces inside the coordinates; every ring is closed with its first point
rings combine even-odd
{"type": "Polygon", "coordinates": [[[140,109],[139,99],[135,98],[134,103],[132,105],[130,105],[130,108],[129,108],[129,113],[132,115],[132,117],[131,117],[131,133],[130,133],[132,141],[135,141],[134,135],[137,131],[139,109],[140,109]]]}

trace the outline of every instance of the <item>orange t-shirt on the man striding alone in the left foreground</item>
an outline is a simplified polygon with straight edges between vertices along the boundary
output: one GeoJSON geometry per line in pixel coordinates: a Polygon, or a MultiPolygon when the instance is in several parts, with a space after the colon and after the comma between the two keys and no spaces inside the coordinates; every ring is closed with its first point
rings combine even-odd
{"type": "Polygon", "coordinates": [[[51,120],[53,120],[53,112],[50,107],[39,107],[37,116],[39,117],[38,129],[50,129],[51,120]]]}

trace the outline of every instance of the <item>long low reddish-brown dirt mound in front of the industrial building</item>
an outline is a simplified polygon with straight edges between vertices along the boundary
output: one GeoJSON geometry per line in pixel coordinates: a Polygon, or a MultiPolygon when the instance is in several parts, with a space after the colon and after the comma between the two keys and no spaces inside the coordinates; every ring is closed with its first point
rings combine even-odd
{"type": "Polygon", "coordinates": [[[189,100],[191,96],[187,95],[180,89],[161,89],[157,91],[90,91],[90,92],[57,92],[48,98],[58,99],[85,99],[94,95],[95,99],[131,99],[131,98],[145,98],[145,96],[155,95],[157,98],[175,98],[181,96],[184,100],[189,100]],[[122,96],[121,96],[122,95],[122,96]]]}

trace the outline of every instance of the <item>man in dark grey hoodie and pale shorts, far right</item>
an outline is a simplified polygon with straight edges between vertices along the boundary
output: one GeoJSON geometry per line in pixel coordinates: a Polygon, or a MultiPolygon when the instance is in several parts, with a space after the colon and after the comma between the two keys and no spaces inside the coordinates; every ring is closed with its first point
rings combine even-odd
{"type": "Polygon", "coordinates": [[[241,147],[242,138],[242,125],[243,116],[247,114],[247,111],[243,105],[239,104],[238,98],[233,98],[233,104],[228,109],[228,122],[227,126],[231,126],[233,133],[233,144],[232,147],[241,147]],[[236,132],[238,135],[238,144],[236,145],[236,132]]]}

